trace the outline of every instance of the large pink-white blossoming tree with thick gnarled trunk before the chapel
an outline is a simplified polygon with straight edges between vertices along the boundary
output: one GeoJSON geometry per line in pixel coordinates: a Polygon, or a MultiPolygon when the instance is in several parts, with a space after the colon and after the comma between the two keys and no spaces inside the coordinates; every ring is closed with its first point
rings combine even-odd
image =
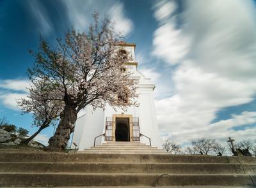
{"type": "Polygon", "coordinates": [[[108,103],[125,110],[137,105],[137,80],[129,71],[122,71],[129,59],[116,50],[113,25],[106,18],[99,24],[97,13],[93,18],[88,33],[72,29],[54,48],[41,40],[40,50],[33,53],[35,64],[28,71],[30,78],[46,80],[47,88],[54,92],[49,99],[64,103],[56,132],[49,140],[51,150],[66,148],[77,113],[86,106],[95,110],[108,103]]]}

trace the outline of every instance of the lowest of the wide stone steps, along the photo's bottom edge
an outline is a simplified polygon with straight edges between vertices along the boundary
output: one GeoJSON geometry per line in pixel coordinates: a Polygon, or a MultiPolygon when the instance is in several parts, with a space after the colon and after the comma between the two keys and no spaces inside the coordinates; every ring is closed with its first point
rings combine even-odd
{"type": "Polygon", "coordinates": [[[248,174],[147,174],[147,173],[0,173],[0,185],[22,186],[128,186],[128,185],[248,185],[248,174]]]}

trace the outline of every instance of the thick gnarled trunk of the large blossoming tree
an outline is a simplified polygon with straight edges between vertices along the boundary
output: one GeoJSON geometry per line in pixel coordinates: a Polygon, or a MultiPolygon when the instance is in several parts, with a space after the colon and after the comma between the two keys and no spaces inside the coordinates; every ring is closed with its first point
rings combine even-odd
{"type": "Polygon", "coordinates": [[[70,134],[74,132],[74,124],[77,119],[76,105],[66,104],[63,112],[60,114],[60,123],[52,136],[49,143],[49,150],[63,151],[65,150],[70,134]]]}

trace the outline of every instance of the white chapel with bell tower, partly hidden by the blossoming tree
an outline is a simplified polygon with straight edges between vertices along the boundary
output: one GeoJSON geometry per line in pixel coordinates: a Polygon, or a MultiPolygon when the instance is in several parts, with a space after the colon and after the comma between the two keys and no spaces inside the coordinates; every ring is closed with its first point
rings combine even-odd
{"type": "Polygon", "coordinates": [[[138,70],[138,62],[135,58],[135,43],[120,41],[117,50],[131,55],[131,61],[125,63],[127,71],[138,79],[138,103],[140,106],[128,107],[127,111],[115,111],[106,105],[105,109],[98,108],[93,111],[91,106],[84,109],[84,114],[77,118],[72,148],[79,151],[100,145],[109,141],[127,141],[146,143],[161,148],[161,138],[157,125],[156,107],[154,105],[154,83],[146,78],[138,70]],[[100,136],[99,136],[100,135],[100,136]],[[99,136],[97,139],[95,137],[99,136]],[[148,137],[148,138],[147,138],[148,137]],[[95,143],[94,143],[95,141],[95,143]]]}

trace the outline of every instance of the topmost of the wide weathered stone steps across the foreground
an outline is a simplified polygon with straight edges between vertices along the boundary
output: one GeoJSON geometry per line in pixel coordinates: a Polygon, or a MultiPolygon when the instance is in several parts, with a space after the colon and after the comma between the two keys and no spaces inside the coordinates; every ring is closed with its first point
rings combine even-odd
{"type": "Polygon", "coordinates": [[[67,163],[249,163],[256,157],[216,157],[172,154],[1,153],[0,162],[67,163]]]}

